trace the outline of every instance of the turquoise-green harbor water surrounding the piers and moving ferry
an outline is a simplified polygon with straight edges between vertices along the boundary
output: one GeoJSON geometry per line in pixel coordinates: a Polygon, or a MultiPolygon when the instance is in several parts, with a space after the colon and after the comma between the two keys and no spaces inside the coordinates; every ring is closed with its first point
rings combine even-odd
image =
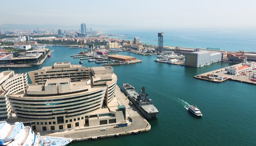
{"type": "MultiPolygon", "coordinates": [[[[38,70],[58,61],[78,64],[70,54],[81,49],[49,47],[52,57],[43,65],[31,68],[10,68],[15,72],[38,70]]],[[[159,118],[150,120],[151,130],[137,135],[125,135],[73,142],[69,146],[255,146],[256,145],[256,86],[234,81],[211,83],[194,79],[193,76],[223,68],[231,63],[214,63],[202,68],[186,68],[154,62],[156,55],[141,56],[128,52],[124,54],[142,59],[142,63],[113,66],[118,76],[118,85],[131,83],[137,90],[142,85],[159,110],[159,118]],[[202,118],[195,118],[187,110],[187,104],[197,105],[202,118]]],[[[84,60],[84,66],[101,64],[84,60]]],[[[0,71],[8,70],[1,68],[0,71]]]]}

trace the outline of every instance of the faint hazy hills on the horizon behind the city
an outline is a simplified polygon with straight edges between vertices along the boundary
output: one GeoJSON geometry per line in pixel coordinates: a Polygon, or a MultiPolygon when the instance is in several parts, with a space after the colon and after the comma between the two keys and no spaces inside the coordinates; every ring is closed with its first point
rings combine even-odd
{"type": "MultiPolygon", "coordinates": [[[[105,25],[97,25],[97,24],[86,24],[86,28],[92,29],[105,29],[111,28],[113,26],[105,26],[105,25]]],[[[65,26],[65,25],[57,25],[57,24],[0,24],[0,30],[10,30],[10,29],[19,29],[19,30],[31,30],[31,29],[80,29],[80,25],[72,25],[72,26],[65,26]]]]}

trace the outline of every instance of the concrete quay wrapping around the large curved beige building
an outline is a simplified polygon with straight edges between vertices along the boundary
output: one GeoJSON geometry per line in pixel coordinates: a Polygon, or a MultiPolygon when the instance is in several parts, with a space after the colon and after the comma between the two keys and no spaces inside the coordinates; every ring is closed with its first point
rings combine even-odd
{"type": "MultiPolygon", "coordinates": [[[[150,130],[151,126],[148,121],[139,113],[135,106],[130,107],[128,105],[128,98],[126,98],[118,86],[116,86],[114,100],[117,105],[124,105],[126,107],[126,117],[132,118],[132,122],[127,120],[128,126],[120,128],[114,128],[116,124],[91,127],[79,126],[70,131],[47,133],[47,136],[71,137],[74,141],[80,141],[141,133],[150,130]],[[105,128],[106,131],[101,131],[102,128],[105,128]]],[[[40,134],[42,135],[43,133],[40,134]]]]}

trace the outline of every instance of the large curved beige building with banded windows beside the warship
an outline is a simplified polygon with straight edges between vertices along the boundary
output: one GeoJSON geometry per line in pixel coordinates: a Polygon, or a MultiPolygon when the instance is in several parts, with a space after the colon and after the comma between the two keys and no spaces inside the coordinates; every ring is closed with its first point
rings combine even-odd
{"type": "Polygon", "coordinates": [[[58,62],[28,74],[32,84],[7,98],[19,119],[32,121],[33,130],[126,123],[125,107],[113,100],[117,75],[111,66],[58,62]]]}

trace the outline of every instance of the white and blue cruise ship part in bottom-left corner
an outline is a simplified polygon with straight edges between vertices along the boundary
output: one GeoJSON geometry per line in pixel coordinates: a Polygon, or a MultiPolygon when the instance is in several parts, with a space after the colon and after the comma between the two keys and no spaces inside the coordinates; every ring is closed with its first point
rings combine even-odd
{"type": "Polygon", "coordinates": [[[5,121],[0,122],[0,146],[66,146],[72,138],[48,137],[37,135],[29,126],[22,122],[10,125],[5,121]]]}

